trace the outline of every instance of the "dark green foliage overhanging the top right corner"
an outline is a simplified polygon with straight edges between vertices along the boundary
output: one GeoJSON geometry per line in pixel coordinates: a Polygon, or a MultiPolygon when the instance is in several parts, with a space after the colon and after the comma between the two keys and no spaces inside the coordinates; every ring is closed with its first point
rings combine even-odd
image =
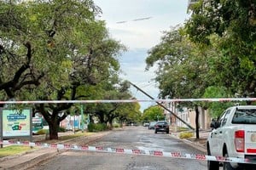
{"type": "Polygon", "coordinates": [[[255,5],[253,1],[201,1],[191,8],[191,18],[186,23],[189,37],[204,42],[216,33],[251,42],[256,31],[255,5]]]}

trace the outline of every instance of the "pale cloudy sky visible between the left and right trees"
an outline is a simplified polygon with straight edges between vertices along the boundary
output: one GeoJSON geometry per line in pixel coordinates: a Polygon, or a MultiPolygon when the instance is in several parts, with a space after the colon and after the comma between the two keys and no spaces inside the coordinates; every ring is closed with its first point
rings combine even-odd
{"type": "MultiPolygon", "coordinates": [[[[123,80],[142,88],[158,99],[159,89],[154,77],[156,67],[145,71],[148,50],[160,42],[163,31],[182,25],[189,18],[188,0],[94,0],[102,8],[100,20],[106,21],[110,36],[128,49],[119,56],[123,80]],[[144,19],[144,20],[143,20],[144,19]]],[[[136,88],[131,93],[137,99],[149,99],[136,88]]],[[[140,103],[141,111],[155,103],[140,103]]]]}

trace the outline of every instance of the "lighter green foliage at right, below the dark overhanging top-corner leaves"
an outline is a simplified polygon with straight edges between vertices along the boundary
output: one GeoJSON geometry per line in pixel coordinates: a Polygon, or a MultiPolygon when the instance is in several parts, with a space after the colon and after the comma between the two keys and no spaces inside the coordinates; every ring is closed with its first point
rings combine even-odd
{"type": "MultiPolygon", "coordinates": [[[[169,99],[229,98],[238,93],[253,97],[256,89],[255,42],[237,39],[236,32],[230,30],[224,35],[212,31],[214,20],[201,12],[201,8],[207,8],[202,7],[202,3],[193,7],[195,11],[184,28],[164,32],[161,42],[148,51],[147,69],[158,65],[155,81],[159,82],[160,96],[169,99]]],[[[214,12],[211,14],[216,17],[214,12]]],[[[209,107],[212,116],[218,116],[230,104],[198,105],[209,107]]]]}

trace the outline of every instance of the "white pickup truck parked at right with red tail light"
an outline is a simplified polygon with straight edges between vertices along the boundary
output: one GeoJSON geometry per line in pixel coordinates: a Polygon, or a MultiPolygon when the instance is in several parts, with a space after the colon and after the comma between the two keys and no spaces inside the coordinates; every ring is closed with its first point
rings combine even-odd
{"type": "MultiPolygon", "coordinates": [[[[256,160],[256,105],[238,105],[228,108],[218,121],[212,121],[212,132],[207,139],[209,156],[236,157],[256,160]]],[[[254,163],[219,163],[208,161],[208,170],[256,169],[254,163]]]]}

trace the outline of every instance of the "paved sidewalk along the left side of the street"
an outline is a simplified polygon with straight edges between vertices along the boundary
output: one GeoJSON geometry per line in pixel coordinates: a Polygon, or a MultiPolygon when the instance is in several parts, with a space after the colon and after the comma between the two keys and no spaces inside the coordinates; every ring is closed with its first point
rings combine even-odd
{"type": "MultiPolygon", "coordinates": [[[[90,144],[96,139],[102,138],[102,136],[107,135],[109,132],[95,133],[90,136],[84,137],[84,144],[90,144]]],[[[44,138],[43,138],[44,139],[44,138]]],[[[73,139],[66,141],[61,141],[60,143],[68,143],[73,139]]],[[[57,144],[57,143],[56,143],[57,144]]],[[[63,150],[53,149],[53,148],[38,148],[30,152],[26,152],[16,156],[7,156],[0,158],[0,170],[12,169],[12,170],[25,170],[28,167],[36,166],[39,162],[48,160],[58,154],[63,150]]]]}

